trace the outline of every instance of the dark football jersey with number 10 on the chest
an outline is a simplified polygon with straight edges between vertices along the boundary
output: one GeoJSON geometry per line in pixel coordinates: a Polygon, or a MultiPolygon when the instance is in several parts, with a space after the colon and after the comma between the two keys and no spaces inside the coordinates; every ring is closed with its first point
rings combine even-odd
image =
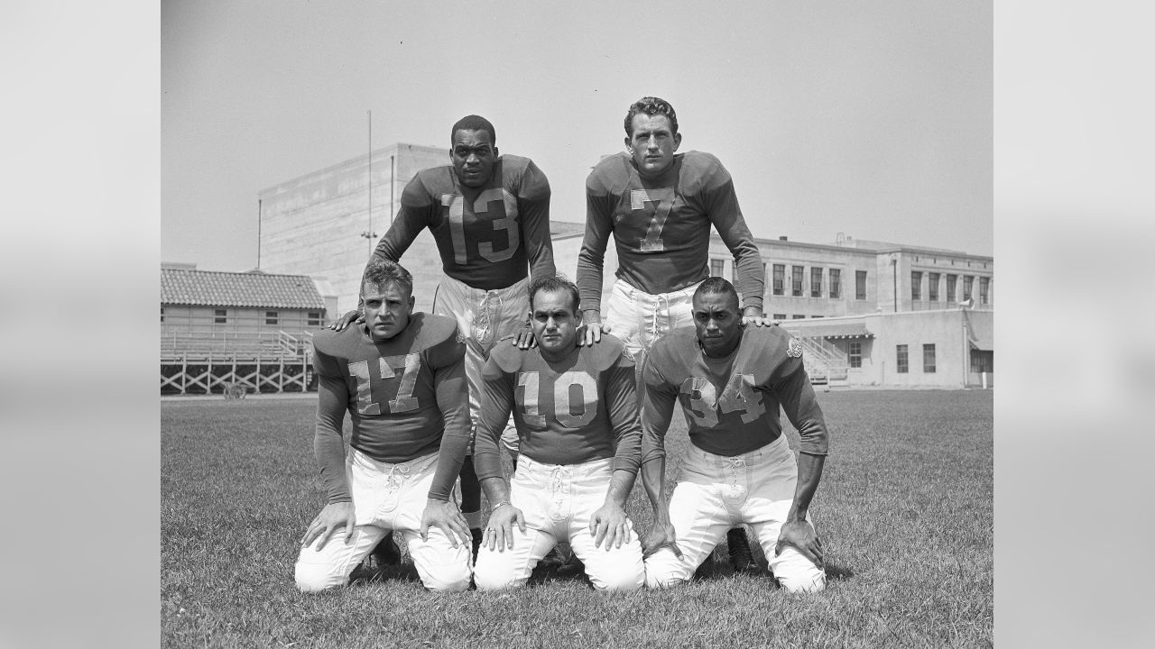
{"type": "Polygon", "coordinates": [[[641,427],[634,359],[606,335],[550,363],[537,348],[498,345],[483,372],[474,467],[479,478],[501,477],[498,437],[513,409],[520,453],[544,464],[581,464],[613,457],[614,470],[638,472],[641,427]]]}

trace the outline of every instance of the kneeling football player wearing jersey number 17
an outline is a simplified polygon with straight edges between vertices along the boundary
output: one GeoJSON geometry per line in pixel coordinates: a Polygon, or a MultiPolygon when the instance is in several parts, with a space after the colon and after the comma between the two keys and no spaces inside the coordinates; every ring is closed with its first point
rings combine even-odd
{"type": "Polygon", "coordinates": [[[469,588],[469,528],[450,499],[469,446],[465,345],[453,319],[412,312],[412,286],[400,264],[370,261],[360,290],[365,321],[313,340],[313,448],[328,503],[301,539],[301,591],[343,585],[393,530],[425,588],[469,588]]]}

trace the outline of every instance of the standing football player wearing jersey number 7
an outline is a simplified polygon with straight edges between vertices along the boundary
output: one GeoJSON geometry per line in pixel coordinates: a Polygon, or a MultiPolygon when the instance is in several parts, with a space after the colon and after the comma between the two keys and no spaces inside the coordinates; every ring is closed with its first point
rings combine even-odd
{"type": "MultiPolygon", "coordinates": [[[[586,180],[586,238],[578,255],[587,330],[602,335],[602,267],[613,233],[618,279],[605,330],[638,355],[678,327],[688,327],[690,299],[709,276],[710,226],[733,254],[743,318],[763,324],[762,259],[738,208],[730,172],[710,154],[676,154],[681,144],[673,106],[642,97],[626,113],[626,152],[598,163],[586,180]]],[[[745,530],[728,536],[735,569],[757,569],[745,530]]]]}

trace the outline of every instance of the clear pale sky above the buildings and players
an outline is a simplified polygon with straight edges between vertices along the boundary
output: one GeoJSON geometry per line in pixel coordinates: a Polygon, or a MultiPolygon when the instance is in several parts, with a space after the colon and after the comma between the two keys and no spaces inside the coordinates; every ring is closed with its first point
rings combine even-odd
{"type": "Polygon", "coordinates": [[[261,189],[478,113],[584,221],[584,179],[654,95],[755,237],[993,254],[988,2],[162,5],[161,259],[256,264],[261,189]]]}

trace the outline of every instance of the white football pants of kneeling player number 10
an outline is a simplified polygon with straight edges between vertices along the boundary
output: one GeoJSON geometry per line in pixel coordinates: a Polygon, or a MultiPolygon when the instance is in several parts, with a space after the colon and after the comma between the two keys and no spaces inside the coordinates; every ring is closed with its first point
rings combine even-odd
{"type": "Polygon", "coordinates": [[[629,523],[629,543],[594,547],[589,521],[605,502],[612,458],[583,464],[542,464],[522,455],[511,484],[509,500],[526,517],[526,532],[513,525],[513,547],[483,545],[474,567],[477,590],[521,587],[559,539],[569,542],[598,590],[634,590],[646,583],[638,534],[629,523]]]}

